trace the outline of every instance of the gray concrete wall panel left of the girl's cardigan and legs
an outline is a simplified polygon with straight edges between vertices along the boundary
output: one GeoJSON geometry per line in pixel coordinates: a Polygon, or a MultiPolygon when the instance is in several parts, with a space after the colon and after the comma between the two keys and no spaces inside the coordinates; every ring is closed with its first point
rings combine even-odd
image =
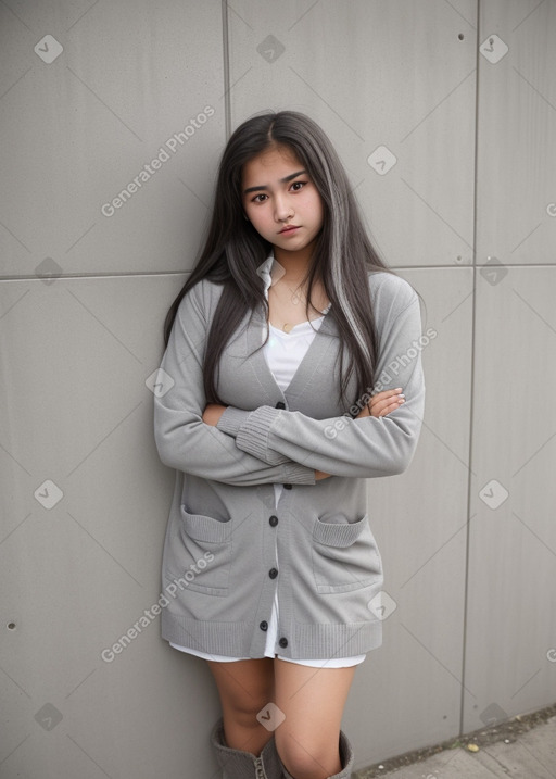
{"type": "Polygon", "coordinates": [[[211,765],[208,670],[153,612],[173,473],[146,381],[182,280],[0,284],[2,778],[211,765]]]}

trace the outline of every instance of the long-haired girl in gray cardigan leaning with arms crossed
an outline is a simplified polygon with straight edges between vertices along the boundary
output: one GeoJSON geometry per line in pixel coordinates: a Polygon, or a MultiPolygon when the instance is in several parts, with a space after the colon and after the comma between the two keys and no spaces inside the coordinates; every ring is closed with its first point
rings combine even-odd
{"type": "Polygon", "coordinates": [[[413,457],[419,337],[323,130],[290,111],[238,127],[155,395],[176,468],[162,632],[208,663],[228,779],[351,776],[342,712],[381,643],[366,478],[413,457]]]}

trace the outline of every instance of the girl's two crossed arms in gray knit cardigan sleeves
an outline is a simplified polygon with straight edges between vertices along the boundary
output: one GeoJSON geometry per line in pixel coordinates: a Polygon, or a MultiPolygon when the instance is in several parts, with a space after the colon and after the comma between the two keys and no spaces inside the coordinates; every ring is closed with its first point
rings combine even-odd
{"type": "Polygon", "coordinates": [[[376,311],[382,317],[377,389],[394,378],[399,387],[372,395],[355,419],[315,419],[268,405],[253,411],[207,405],[203,350],[212,290],[204,282],[191,289],[181,301],[161,365],[172,378],[172,389],[154,399],[162,462],[238,486],[314,485],[329,475],[370,478],[405,470],[416,449],[425,403],[420,349],[412,345],[421,336],[420,313],[409,285],[400,278],[387,281],[375,291],[376,311]]]}

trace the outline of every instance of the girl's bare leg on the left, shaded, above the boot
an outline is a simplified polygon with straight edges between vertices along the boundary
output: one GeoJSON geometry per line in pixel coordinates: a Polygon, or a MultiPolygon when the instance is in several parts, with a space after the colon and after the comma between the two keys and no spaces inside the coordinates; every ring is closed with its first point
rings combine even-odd
{"type": "Polygon", "coordinates": [[[226,743],[258,756],[273,736],[256,715],[274,701],[274,661],[207,662],[220,696],[226,743]]]}

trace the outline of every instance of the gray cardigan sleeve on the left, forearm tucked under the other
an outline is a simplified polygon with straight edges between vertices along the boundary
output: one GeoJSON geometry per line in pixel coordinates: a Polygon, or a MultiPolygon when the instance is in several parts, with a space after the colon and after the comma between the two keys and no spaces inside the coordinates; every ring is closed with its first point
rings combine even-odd
{"type": "Polygon", "coordinates": [[[280,458],[280,464],[265,463],[238,449],[232,437],[203,422],[207,323],[201,284],[180,303],[156,378],[161,391],[154,393],[154,438],[160,458],[177,470],[229,485],[314,485],[314,468],[287,457],[280,458]],[[165,387],[168,389],[164,391],[165,387]]]}

